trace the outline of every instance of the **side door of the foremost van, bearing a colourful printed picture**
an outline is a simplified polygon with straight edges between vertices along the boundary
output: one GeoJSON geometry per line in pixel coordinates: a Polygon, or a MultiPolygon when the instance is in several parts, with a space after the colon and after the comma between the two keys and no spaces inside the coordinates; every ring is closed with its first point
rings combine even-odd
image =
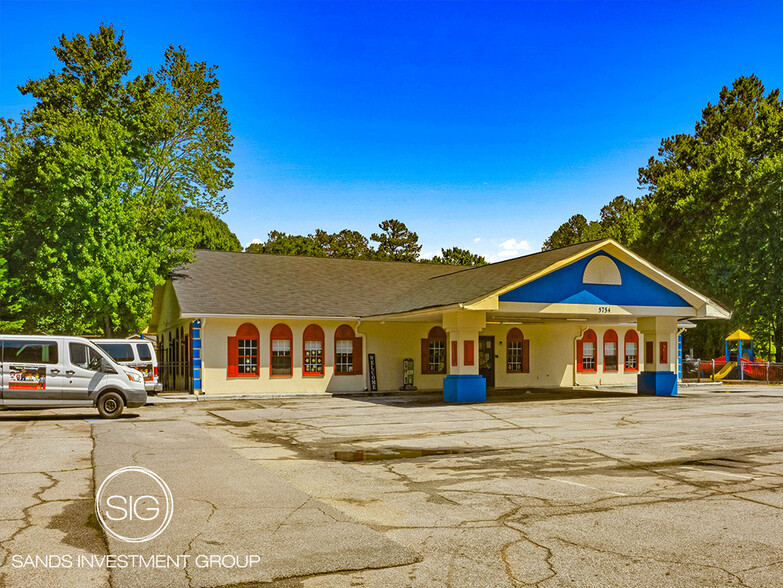
{"type": "Polygon", "coordinates": [[[62,402],[62,342],[13,338],[3,342],[2,394],[5,406],[59,406],[62,402]]]}

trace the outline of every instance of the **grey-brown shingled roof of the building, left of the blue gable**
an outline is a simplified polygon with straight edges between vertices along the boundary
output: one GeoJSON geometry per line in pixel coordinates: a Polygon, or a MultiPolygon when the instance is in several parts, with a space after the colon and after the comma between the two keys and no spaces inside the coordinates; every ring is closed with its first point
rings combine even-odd
{"type": "Polygon", "coordinates": [[[359,318],[471,302],[595,244],[473,268],[197,250],[170,278],[186,316],[359,318]]]}

